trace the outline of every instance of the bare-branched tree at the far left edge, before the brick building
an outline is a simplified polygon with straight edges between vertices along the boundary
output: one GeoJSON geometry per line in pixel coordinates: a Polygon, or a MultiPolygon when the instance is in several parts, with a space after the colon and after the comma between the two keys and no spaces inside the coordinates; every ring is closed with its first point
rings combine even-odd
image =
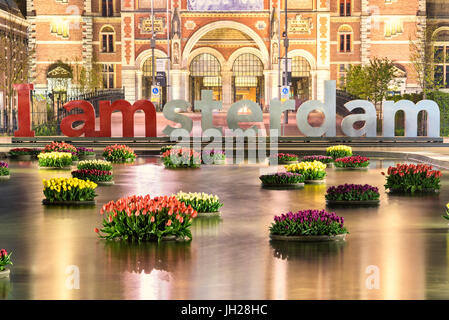
{"type": "Polygon", "coordinates": [[[0,30],[0,90],[6,98],[3,125],[10,133],[13,131],[14,85],[28,82],[29,56],[32,53],[23,35],[26,29],[14,21],[15,16],[8,13],[8,18],[2,21],[4,28],[0,30]]]}

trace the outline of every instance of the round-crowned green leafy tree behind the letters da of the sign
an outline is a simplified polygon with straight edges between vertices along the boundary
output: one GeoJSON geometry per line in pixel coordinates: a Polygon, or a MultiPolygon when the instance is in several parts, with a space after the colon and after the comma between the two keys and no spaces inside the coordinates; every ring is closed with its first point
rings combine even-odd
{"type": "Polygon", "coordinates": [[[346,70],[343,89],[360,99],[374,103],[380,116],[380,103],[395,85],[396,67],[387,58],[374,58],[367,65],[351,65],[346,70]]]}

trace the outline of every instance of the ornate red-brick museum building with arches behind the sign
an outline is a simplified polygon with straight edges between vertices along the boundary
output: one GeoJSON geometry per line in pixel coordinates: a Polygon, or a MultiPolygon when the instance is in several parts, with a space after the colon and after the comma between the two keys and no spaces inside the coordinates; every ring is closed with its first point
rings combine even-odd
{"type": "Polygon", "coordinates": [[[79,85],[76,66],[99,65],[102,86],[125,88],[129,101],[150,99],[152,87],[160,86],[161,102],[193,102],[209,89],[225,109],[242,99],[266,109],[270,99],[280,97],[287,20],[290,95],[299,103],[323,99],[324,80],[341,85],[349,65],[373,57],[394,61],[400,77],[395,91],[420,90],[410,39],[423,34],[425,0],[288,0],[287,19],[284,5],[284,0],[28,0],[35,88],[70,92],[79,85]]]}

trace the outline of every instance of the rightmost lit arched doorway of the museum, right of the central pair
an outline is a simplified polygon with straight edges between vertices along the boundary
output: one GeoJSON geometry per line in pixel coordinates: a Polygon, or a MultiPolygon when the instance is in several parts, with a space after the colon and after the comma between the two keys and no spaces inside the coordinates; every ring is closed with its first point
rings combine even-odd
{"type": "Polygon", "coordinates": [[[290,88],[292,98],[295,99],[296,109],[312,95],[310,64],[303,57],[292,59],[292,86],[290,88]]]}

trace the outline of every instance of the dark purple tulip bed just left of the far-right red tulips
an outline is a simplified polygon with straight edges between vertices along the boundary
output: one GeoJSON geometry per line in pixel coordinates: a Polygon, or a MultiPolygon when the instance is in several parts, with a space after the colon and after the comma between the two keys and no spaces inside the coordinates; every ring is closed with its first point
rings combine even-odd
{"type": "Polygon", "coordinates": [[[344,184],[327,189],[328,204],[378,204],[379,188],[369,184],[344,184]]]}

